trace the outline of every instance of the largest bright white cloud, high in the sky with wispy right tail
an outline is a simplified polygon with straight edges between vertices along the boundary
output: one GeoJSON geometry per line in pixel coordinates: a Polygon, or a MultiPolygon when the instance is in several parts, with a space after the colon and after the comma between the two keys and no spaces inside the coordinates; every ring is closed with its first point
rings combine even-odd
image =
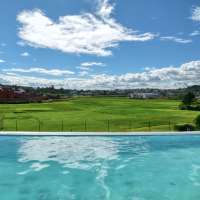
{"type": "Polygon", "coordinates": [[[23,11],[17,16],[22,26],[19,45],[50,48],[66,53],[110,56],[120,41],[147,41],[157,35],[142,33],[124,27],[110,17],[114,6],[108,0],[98,0],[95,14],[67,15],[57,22],[46,17],[40,9],[23,11]]]}

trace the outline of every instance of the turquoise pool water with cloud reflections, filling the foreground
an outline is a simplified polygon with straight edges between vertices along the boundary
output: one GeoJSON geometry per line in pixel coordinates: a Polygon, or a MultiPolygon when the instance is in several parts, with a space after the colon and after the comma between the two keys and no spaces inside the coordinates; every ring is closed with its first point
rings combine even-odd
{"type": "Polygon", "coordinates": [[[0,136],[0,200],[199,200],[200,136],[0,136]]]}

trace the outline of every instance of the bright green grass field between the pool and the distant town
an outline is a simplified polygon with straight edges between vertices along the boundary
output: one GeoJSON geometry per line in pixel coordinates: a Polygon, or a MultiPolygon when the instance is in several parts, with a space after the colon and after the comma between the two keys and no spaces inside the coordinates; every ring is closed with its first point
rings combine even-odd
{"type": "Polygon", "coordinates": [[[171,131],[192,123],[198,111],[179,110],[179,101],[77,98],[53,103],[1,104],[2,131],[171,131]],[[63,125],[62,125],[63,124],[63,125]]]}

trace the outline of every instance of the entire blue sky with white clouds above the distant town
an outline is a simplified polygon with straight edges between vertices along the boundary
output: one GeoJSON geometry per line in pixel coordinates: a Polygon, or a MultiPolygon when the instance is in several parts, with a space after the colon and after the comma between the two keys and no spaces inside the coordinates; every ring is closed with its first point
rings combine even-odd
{"type": "Polygon", "coordinates": [[[0,83],[179,88],[200,81],[197,0],[6,0],[0,83]]]}

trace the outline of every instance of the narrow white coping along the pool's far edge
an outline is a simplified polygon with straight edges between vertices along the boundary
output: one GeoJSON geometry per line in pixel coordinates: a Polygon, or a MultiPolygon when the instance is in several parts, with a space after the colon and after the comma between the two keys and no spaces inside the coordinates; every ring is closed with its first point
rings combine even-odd
{"type": "Polygon", "coordinates": [[[200,135],[200,131],[184,132],[22,132],[0,131],[0,136],[161,136],[200,135]]]}

